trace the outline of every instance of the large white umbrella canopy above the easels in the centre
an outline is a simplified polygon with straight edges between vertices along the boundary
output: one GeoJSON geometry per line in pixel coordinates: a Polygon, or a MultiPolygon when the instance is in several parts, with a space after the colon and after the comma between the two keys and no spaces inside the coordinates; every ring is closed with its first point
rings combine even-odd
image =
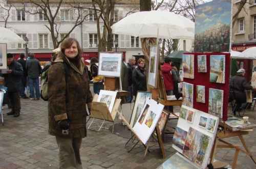
{"type": "Polygon", "coordinates": [[[114,34],[140,38],[194,39],[195,23],[166,11],[143,11],[126,16],[111,26],[114,34]]]}

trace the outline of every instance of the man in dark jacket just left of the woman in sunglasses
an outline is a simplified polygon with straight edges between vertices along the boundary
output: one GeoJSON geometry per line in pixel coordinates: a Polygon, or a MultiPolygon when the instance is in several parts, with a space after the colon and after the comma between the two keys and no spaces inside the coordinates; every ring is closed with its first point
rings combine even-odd
{"type": "Polygon", "coordinates": [[[128,74],[128,92],[129,94],[126,96],[126,102],[131,103],[133,100],[133,70],[136,61],[134,57],[130,57],[129,61],[126,65],[127,74],[128,74]]]}

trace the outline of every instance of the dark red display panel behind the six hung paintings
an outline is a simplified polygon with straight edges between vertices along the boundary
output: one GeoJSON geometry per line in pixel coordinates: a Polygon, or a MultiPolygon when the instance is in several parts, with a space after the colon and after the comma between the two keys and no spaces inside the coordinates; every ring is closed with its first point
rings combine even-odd
{"type": "Polygon", "coordinates": [[[184,82],[194,85],[193,108],[208,113],[209,88],[224,91],[223,97],[223,120],[227,121],[228,111],[228,92],[229,92],[229,72],[230,72],[230,53],[184,53],[193,54],[194,57],[194,79],[183,78],[184,82]],[[207,72],[198,72],[198,55],[206,55],[207,72]],[[210,55],[225,55],[225,83],[210,82],[210,55]],[[197,102],[197,85],[205,86],[205,103],[197,102]]]}

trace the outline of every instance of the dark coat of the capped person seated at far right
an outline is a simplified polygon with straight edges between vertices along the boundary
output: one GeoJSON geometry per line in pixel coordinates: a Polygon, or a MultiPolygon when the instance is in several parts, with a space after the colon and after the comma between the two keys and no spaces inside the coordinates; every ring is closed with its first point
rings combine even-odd
{"type": "Polygon", "coordinates": [[[234,92],[234,97],[237,101],[239,101],[240,103],[245,103],[245,90],[251,90],[252,86],[250,86],[250,84],[246,82],[246,79],[242,75],[236,75],[230,78],[229,88],[230,91],[234,92]]]}

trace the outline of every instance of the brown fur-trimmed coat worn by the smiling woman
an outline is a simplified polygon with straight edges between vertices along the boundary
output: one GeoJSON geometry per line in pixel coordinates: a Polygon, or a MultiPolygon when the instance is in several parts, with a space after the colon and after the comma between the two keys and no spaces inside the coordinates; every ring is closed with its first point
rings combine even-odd
{"type": "Polygon", "coordinates": [[[49,134],[67,138],[86,137],[86,103],[91,108],[93,97],[82,61],[77,69],[62,52],[58,54],[48,72],[48,96],[49,134]],[[62,62],[66,62],[69,67],[67,85],[62,62]],[[58,122],[66,119],[69,123],[69,134],[63,135],[58,122]]]}

